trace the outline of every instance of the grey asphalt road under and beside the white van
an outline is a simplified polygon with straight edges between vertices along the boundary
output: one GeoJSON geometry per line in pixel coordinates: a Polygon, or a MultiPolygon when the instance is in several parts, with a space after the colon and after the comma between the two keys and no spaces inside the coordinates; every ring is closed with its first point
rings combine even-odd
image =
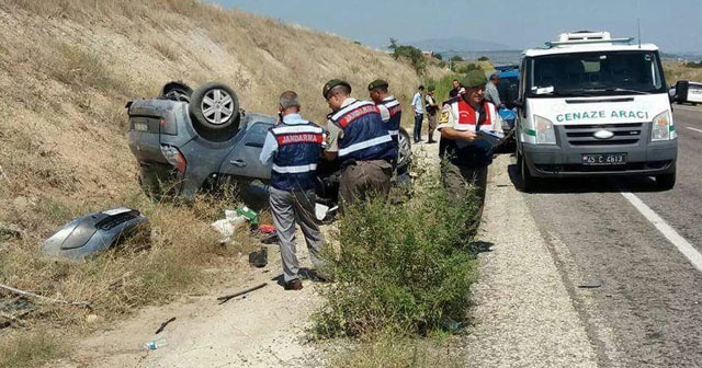
{"type": "Polygon", "coordinates": [[[578,179],[524,195],[601,367],[702,367],[702,267],[669,240],[672,231],[702,253],[702,108],[676,105],[673,119],[673,189],[578,179]],[[622,192],[663,219],[668,237],[622,192]]]}

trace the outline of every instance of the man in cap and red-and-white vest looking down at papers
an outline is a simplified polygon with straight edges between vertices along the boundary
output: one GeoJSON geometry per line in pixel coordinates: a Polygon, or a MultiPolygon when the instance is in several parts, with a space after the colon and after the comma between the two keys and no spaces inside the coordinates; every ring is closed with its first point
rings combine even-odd
{"type": "Polygon", "coordinates": [[[468,71],[462,80],[465,93],[444,103],[437,127],[441,131],[439,156],[444,186],[452,200],[463,200],[471,185],[477,187],[477,220],[485,199],[487,166],[492,163],[492,146],[477,133],[501,126],[495,105],[483,99],[485,83],[483,71],[468,71]]]}

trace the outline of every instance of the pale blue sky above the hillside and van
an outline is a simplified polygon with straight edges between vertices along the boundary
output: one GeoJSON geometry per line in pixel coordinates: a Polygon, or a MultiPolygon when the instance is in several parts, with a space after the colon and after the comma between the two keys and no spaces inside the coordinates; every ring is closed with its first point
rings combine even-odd
{"type": "MultiPolygon", "coordinates": [[[[463,36],[510,46],[541,47],[568,31],[610,31],[665,53],[702,54],[700,0],[205,0],[225,9],[331,32],[375,47],[463,36]]],[[[435,50],[441,53],[442,50],[435,50]]]]}

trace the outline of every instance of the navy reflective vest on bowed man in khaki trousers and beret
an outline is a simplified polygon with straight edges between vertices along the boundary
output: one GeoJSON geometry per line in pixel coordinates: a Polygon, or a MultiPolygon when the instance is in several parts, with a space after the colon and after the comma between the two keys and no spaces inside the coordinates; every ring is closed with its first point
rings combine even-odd
{"type": "Polygon", "coordinates": [[[343,130],[339,139],[339,161],[386,160],[397,157],[377,107],[369,101],[354,101],[336,112],[329,120],[343,130]]]}

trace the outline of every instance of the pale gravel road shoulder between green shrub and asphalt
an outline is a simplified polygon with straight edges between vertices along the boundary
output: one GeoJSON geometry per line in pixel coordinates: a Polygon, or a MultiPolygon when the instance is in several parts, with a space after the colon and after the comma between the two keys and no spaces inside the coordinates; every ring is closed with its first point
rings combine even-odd
{"type": "Polygon", "coordinates": [[[476,367],[596,367],[597,356],[558,268],[534,222],[524,194],[510,180],[512,159],[490,166],[478,239],[475,325],[465,340],[476,367]]]}

